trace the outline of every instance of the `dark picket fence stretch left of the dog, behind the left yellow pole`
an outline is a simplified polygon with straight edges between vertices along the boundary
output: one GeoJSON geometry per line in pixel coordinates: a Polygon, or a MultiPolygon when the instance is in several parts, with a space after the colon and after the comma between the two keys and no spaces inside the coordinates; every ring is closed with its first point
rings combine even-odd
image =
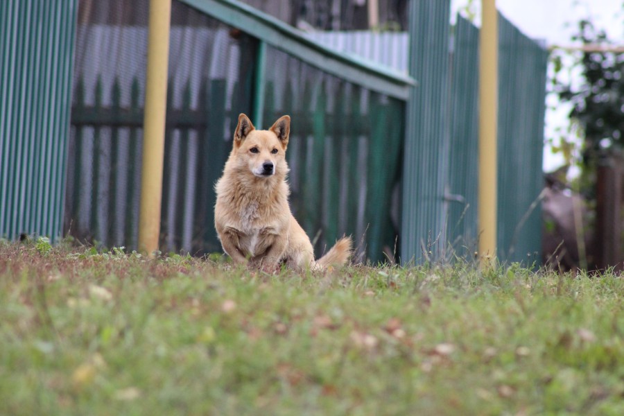
{"type": "MultiPolygon", "coordinates": [[[[137,51],[147,46],[140,24],[147,2],[137,6],[139,24],[94,15],[78,25],[64,221],[80,241],[129,250],[137,248],[145,94],[144,55],[137,51]],[[105,24],[88,23],[94,20],[105,24]],[[106,51],[118,61],[98,62],[106,51]]],[[[189,26],[172,27],[159,245],[204,254],[220,251],[214,183],[239,114],[252,111],[257,44],[229,36],[232,28],[179,2],[173,6],[174,18],[189,26]]]]}

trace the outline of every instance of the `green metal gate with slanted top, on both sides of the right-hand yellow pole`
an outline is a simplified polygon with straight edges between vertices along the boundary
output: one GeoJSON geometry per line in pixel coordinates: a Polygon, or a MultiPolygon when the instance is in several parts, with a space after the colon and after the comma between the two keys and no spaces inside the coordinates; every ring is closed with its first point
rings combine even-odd
{"type": "MultiPolygon", "coordinates": [[[[447,203],[449,243],[460,257],[471,256],[478,240],[478,36],[458,17],[447,203]]],[[[547,59],[544,49],[499,15],[497,251],[503,261],[539,262],[547,59]]]]}

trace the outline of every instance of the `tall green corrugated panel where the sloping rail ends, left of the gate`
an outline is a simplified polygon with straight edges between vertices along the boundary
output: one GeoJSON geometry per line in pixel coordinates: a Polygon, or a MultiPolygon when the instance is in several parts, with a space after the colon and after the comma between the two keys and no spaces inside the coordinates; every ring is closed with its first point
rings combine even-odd
{"type": "Polygon", "coordinates": [[[404,262],[439,257],[446,245],[449,13],[449,1],[410,2],[409,67],[419,87],[412,89],[406,109],[401,225],[404,262]]]}

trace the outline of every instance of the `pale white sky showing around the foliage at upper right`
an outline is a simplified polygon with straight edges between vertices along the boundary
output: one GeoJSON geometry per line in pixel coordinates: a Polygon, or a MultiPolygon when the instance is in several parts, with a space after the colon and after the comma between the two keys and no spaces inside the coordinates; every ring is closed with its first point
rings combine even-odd
{"type": "MultiPolygon", "coordinates": [[[[465,7],[468,0],[453,0],[453,10],[465,7]]],[[[474,1],[480,3],[480,1],[474,1]]],[[[477,5],[478,6],[478,5],[477,5]]],[[[624,0],[496,0],[496,7],[525,35],[544,40],[548,46],[569,46],[575,24],[580,19],[591,17],[598,28],[604,28],[607,37],[615,44],[624,45],[624,0]]],[[[476,10],[477,15],[480,10],[476,10]]],[[[478,21],[476,22],[478,24],[478,21]]],[[[571,64],[573,60],[569,60],[571,64]]],[[[575,78],[574,71],[571,77],[575,78]]],[[[548,138],[560,136],[557,128],[566,130],[569,124],[566,114],[569,107],[562,105],[554,96],[549,96],[546,110],[548,138]],[[555,108],[552,108],[555,107],[555,108]]],[[[544,170],[552,171],[561,166],[563,159],[544,148],[544,170]]]]}

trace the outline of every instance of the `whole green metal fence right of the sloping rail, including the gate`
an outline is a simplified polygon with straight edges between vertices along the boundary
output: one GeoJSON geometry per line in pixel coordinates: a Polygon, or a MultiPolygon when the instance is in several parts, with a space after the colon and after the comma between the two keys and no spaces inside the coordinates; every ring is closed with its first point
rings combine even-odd
{"type": "MultiPolygon", "coordinates": [[[[404,261],[470,259],[478,246],[479,32],[458,17],[449,57],[447,3],[422,0],[411,10],[410,71],[420,87],[408,101],[404,261]]],[[[544,48],[499,15],[497,251],[503,261],[539,262],[547,60],[544,48]]]]}

